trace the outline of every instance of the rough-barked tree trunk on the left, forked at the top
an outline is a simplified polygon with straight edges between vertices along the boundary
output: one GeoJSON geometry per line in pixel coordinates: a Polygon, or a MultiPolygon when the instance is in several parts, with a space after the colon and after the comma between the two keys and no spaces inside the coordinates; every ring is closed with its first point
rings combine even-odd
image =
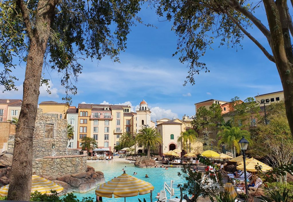
{"type": "Polygon", "coordinates": [[[44,54],[50,35],[50,26],[54,18],[54,8],[57,2],[58,0],[40,0],[38,2],[33,27],[24,1],[18,0],[16,2],[21,9],[30,44],[23,82],[23,101],[18,124],[16,125],[8,200],[30,200],[33,172],[33,132],[38,109],[40,80],[44,54]]]}

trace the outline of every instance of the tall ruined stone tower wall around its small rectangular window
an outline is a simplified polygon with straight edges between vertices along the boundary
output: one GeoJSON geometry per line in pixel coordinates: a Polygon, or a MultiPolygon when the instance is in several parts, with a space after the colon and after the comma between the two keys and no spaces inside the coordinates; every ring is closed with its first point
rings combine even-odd
{"type": "Polygon", "coordinates": [[[67,120],[59,119],[58,114],[43,114],[42,109],[38,108],[33,135],[33,158],[60,155],[67,155],[67,120]],[[45,138],[46,124],[53,124],[53,138],[45,138]]]}

